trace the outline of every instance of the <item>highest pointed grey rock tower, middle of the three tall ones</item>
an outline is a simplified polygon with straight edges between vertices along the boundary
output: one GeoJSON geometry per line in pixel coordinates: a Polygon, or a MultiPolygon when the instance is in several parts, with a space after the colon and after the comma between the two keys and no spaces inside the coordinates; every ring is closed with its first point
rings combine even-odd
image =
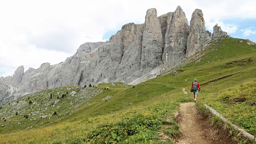
{"type": "Polygon", "coordinates": [[[172,68],[186,58],[189,26],[185,12],[178,6],[172,13],[170,28],[166,33],[162,71],[172,68]]]}

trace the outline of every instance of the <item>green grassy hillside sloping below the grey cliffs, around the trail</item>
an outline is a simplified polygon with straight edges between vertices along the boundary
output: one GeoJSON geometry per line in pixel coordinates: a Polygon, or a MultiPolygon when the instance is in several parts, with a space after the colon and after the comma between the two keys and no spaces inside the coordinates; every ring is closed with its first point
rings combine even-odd
{"type": "MultiPolygon", "coordinates": [[[[197,98],[198,105],[209,104],[238,126],[256,135],[256,106],[250,105],[256,101],[253,88],[256,78],[256,46],[249,46],[246,40],[243,43],[239,41],[228,38],[212,42],[194,58],[174,68],[179,72],[176,76],[164,74],[134,87],[122,83],[116,83],[116,86],[99,84],[97,89],[102,90],[107,86],[109,89],[103,90],[98,96],[92,96],[89,101],[84,100],[79,108],[72,109],[72,114],[63,116],[73,100],[67,101],[69,105],[57,112],[62,118],[54,116],[45,125],[40,120],[28,129],[24,128],[31,126],[33,120],[18,124],[24,114],[32,112],[27,111],[30,109],[28,104],[23,108],[26,112],[20,113],[21,117],[16,117],[15,111],[8,111],[12,113],[12,118],[6,122],[1,119],[0,126],[4,127],[0,127],[0,142],[171,143],[168,138],[159,137],[159,133],[170,138],[179,136],[174,113],[178,111],[180,103],[193,100],[192,94],[183,94],[182,88],[189,90],[194,78],[198,79],[202,87],[197,98]],[[110,98],[102,100],[106,96],[110,98]],[[12,126],[6,126],[7,122],[12,126]]],[[[50,91],[42,93],[47,95],[50,91]]],[[[30,98],[38,99],[39,95],[31,95],[30,98]]],[[[20,102],[25,104],[28,100],[24,97],[20,102]]],[[[3,115],[1,112],[5,108],[6,105],[0,109],[0,114],[3,115]]],[[[47,114],[52,112],[54,109],[47,114]]]]}

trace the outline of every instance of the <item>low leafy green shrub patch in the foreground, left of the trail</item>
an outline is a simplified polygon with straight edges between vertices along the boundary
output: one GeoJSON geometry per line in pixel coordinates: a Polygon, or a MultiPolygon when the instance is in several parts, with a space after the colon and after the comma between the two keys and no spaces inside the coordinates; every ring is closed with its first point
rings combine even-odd
{"type": "MultiPolygon", "coordinates": [[[[143,115],[134,115],[131,118],[125,118],[121,122],[114,124],[103,124],[86,134],[88,139],[82,141],[88,143],[132,143],[136,137],[138,141],[150,141],[157,139],[158,129],[161,122],[156,117],[144,117],[143,115]]],[[[138,142],[137,141],[137,142],[138,142]]]]}

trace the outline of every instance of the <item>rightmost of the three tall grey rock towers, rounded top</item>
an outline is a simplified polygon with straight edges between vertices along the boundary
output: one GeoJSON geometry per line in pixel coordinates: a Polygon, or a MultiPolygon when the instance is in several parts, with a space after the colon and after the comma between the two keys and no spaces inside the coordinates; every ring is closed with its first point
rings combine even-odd
{"type": "Polygon", "coordinates": [[[188,35],[186,56],[192,56],[202,50],[212,40],[210,35],[209,31],[206,32],[202,10],[196,9],[190,20],[190,34],[188,35]]]}

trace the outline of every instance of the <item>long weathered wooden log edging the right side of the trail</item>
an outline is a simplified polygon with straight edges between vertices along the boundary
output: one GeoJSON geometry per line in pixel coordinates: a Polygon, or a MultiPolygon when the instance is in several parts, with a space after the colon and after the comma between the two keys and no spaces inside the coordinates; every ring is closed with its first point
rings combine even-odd
{"type": "Polygon", "coordinates": [[[245,138],[247,138],[250,141],[255,141],[256,142],[256,138],[255,136],[253,136],[252,134],[246,132],[245,130],[239,128],[238,126],[232,124],[232,122],[230,122],[228,119],[224,118],[223,116],[221,116],[221,114],[219,114],[216,110],[214,110],[212,107],[208,106],[207,104],[205,104],[206,109],[210,110],[210,112],[216,116],[218,116],[222,122],[229,124],[232,128],[234,128],[235,130],[238,130],[240,132],[240,134],[243,134],[245,138]]]}

